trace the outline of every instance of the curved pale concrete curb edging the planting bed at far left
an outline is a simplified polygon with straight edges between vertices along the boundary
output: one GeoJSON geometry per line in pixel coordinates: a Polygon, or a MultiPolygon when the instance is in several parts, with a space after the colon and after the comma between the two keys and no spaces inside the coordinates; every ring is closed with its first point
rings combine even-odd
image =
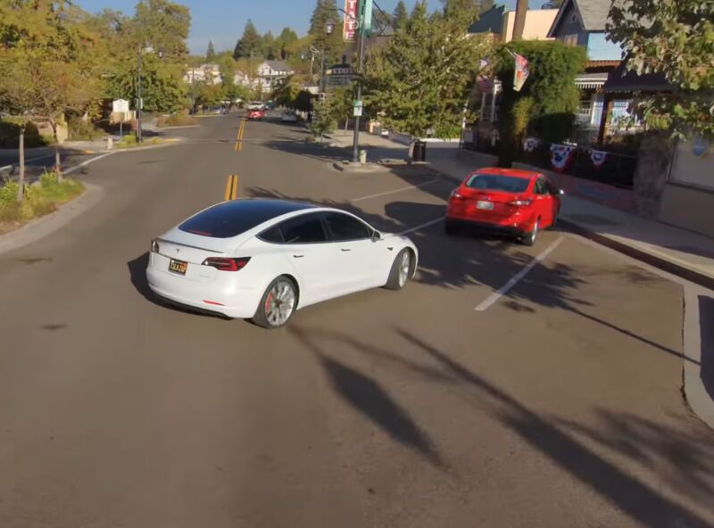
{"type": "Polygon", "coordinates": [[[37,242],[52,235],[76,219],[80,214],[101,202],[106,192],[100,186],[84,184],[85,192],[71,202],[64,203],[60,208],[42,218],[32,220],[19,229],[5,235],[0,235],[0,254],[12,252],[30,243],[37,242]]]}

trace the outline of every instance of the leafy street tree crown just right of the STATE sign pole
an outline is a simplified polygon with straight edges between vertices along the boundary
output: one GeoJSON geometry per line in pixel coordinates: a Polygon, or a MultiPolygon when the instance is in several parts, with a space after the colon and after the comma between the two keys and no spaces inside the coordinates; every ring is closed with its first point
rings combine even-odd
{"type": "Polygon", "coordinates": [[[369,54],[366,68],[370,113],[383,112],[386,126],[412,136],[433,128],[458,136],[475,64],[492,49],[487,37],[466,37],[463,19],[427,12],[419,2],[403,30],[369,54]]]}

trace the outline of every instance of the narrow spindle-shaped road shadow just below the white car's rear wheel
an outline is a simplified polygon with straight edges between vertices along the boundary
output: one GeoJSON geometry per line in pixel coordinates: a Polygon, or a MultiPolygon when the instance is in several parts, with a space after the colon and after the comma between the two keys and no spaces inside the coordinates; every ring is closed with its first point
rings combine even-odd
{"type": "Polygon", "coordinates": [[[393,400],[384,387],[368,375],[331,358],[317,344],[312,332],[303,331],[297,326],[290,326],[289,331],[318,359],[330,384],[342,400],[394,441],[419,453],[431,464],[444,468],[444,462],[428,434],[393,400]]]}

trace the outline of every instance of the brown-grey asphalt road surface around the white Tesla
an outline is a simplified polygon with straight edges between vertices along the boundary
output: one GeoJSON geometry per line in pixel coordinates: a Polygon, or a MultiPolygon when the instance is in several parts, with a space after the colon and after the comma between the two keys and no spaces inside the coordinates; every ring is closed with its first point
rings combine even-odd
{"type": "Polygon", "coordinates": [[[104,202],[0,255],[0,526],[714,525],[679,285],[557,230],[446,237],[433,174],[343,174],[270,122],[237,152],[237,128],[97,161],[81,177],[104,202]],[[276,332],[164,306],[149,241],[229,174],[242,196],[429,224],[417,280],[276,332]]]}

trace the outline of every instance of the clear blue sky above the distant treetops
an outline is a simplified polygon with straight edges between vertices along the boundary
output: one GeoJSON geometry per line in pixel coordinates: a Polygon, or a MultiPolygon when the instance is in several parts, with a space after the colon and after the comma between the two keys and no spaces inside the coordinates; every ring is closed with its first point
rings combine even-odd
{"type": "MultiPolygon", "coordinates": [[[[192,54],[204,54],[208,41],[211,39],[216,50],[233,49],[237,39],[243,34],[245,22],[251,19],[261,33],[269,29],[278,34],[289,26],[299,35],[307,32],[310,15],[315,6],[315,0],[174,0],[185,4],[191,9],[191,35],[188,45],[192,54]]],[[[530,7],[540,8],[545,0],[531,0],[530,7]]],[[[379,6],[386,12],[392,12],[398,0],[377,0],[379,6]]],[[[416,0],[405,0],[411,9],[416,0]]],[[[102,11],[104,7],[114,10],[134,12],[136,0],[77,0],[82,8],[90,12],[102,11]]],[[[512,8],[515,0],[505,0],[512,8]]],[[[337,0],[337,4],[342,4],[337,0]]],[[[441,5],[439,0],[429,0],[432,8],[441,5]]]]}

